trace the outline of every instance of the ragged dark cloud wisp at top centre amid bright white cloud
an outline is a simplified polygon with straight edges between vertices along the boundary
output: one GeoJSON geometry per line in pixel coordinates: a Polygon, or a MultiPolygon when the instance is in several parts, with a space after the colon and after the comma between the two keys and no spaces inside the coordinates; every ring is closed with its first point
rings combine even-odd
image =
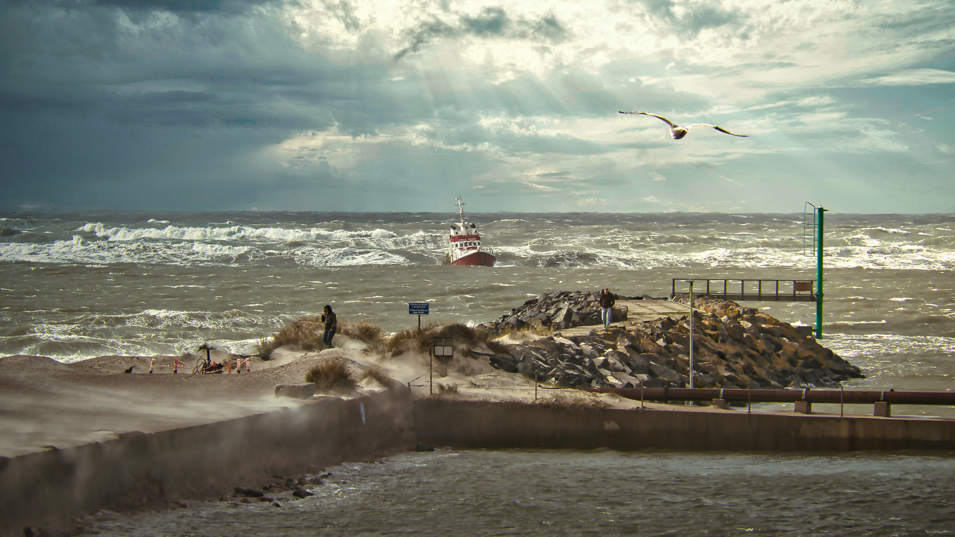
{"type": "Polygon", "coordinates": [[[442,37],[462,35],[560,43],[567,38],[567,31],[552,14],[532,20],[523,17],[512,19],[503,8],[484,8],[477,16],[457,15],[456,24],[432,20],[409,29],[405,32],[405,40],[409,44],[394,54],[394,59],[420,52],[422,47],[442,37]]]}

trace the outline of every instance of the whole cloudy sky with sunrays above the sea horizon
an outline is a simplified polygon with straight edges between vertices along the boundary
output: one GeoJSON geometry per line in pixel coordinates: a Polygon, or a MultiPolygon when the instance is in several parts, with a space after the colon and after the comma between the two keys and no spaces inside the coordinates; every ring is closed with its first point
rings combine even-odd
{"type": "Polygon", "coordinates": [[[955,212],[953,52],[951,0],[0,0],[0,208],[955,212]]]}

